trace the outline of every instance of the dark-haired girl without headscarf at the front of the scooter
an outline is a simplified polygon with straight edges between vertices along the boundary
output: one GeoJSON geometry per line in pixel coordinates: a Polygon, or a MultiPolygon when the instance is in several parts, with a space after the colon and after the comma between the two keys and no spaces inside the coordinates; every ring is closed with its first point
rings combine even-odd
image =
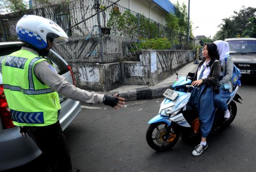
{"type": "Polygon", "coordinates": [[[217,45],[208,43],[204,46],[203,56],[191,85],[195,87],[191,92],[189,104],[197,109],[201,122],[201,143],[192,151],[198,156],[208,147],[206,137],[210,133],[215,113],[214,95],[218,91],[220,62],[217,45]]]}

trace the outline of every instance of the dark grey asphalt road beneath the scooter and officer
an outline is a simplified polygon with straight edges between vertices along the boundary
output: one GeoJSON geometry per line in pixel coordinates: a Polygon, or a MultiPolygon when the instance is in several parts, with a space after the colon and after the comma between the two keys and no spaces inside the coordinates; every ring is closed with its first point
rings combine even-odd
{"type": "MultiPolygon", "coordinates": [[[[208,149],[198,157],[191,154],[197,140],[180,139],[172,150],[162,153],[147,145],[147,122],[158,113],[163,99],[130,101],[119,111],[84,104],[82,113],[64,131],[73,167],[81,172],[255,172],[255,81],[243,82],[238,93],[244,100],[237,103],[236,119],[225,130],[212,132],[208,149]]],[[[41,159],[14,172],[38,167],[41,159]]]]}

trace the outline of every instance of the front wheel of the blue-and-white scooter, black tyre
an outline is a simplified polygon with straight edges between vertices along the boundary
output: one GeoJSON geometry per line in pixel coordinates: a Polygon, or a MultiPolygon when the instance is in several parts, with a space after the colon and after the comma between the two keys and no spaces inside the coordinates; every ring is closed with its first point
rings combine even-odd
{"type": "Polygon", "coordinates": [[[146,131],[147,144],[156,151],[170,150],[178,142],[180,130],[165,122],[151,124],[146,131]]]}

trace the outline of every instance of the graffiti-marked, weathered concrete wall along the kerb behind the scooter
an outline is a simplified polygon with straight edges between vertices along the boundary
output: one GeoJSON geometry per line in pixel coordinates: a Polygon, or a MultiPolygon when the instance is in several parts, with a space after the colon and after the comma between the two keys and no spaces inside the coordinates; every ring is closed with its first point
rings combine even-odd
{"type": "Polygon", "coordinates": [[[121,84],[155,85],[194,60],[195,50],[143,50],[140,62],[71,63],[77,87],[110,91],[121,84]]]}

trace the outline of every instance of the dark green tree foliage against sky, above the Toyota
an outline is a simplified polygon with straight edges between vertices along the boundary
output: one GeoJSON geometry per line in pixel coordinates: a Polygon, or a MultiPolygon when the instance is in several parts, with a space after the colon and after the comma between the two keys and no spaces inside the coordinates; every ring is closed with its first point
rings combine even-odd
{"type": "Polygon", "coordinates": [[[232,37],[256,37],[256,8],[242,6],[239,12],[234,11],[230,18],[222,19],[220,30],[214,39],[224,40],[232,37]]]}

